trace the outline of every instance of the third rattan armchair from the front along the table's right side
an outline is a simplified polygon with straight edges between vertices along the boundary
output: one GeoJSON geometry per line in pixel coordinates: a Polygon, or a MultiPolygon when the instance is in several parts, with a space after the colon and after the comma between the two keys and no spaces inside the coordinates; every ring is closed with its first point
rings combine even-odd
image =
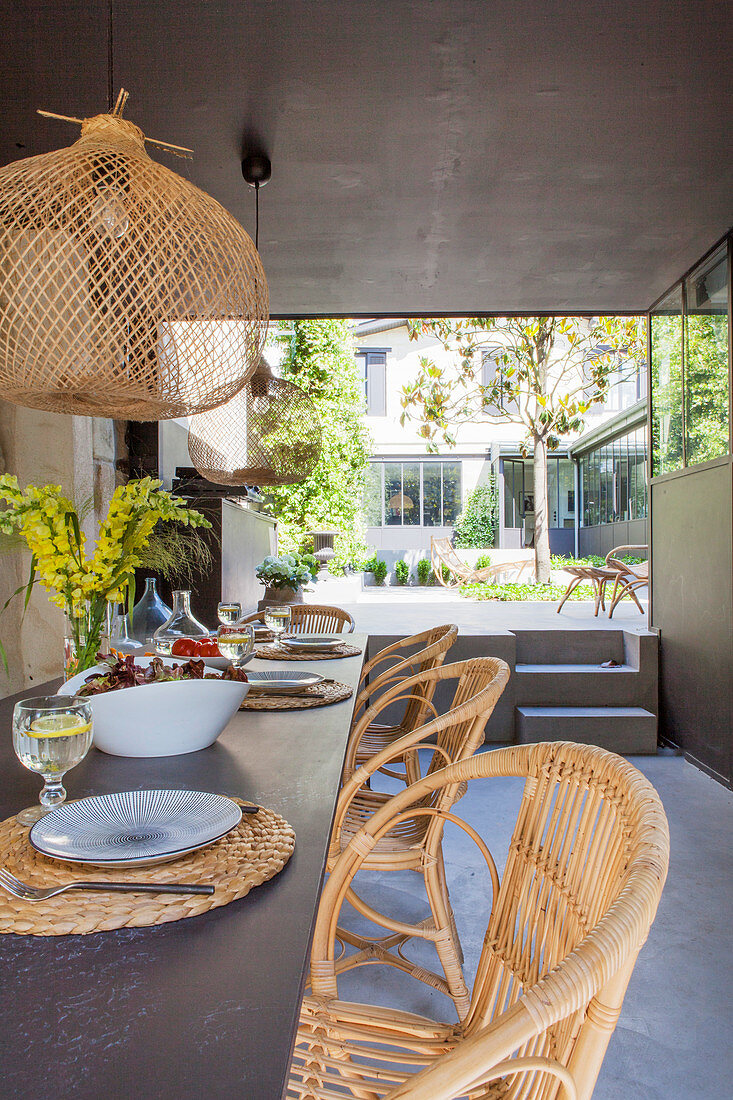
{"type": "MultiPolygon", "coordinates": [[[[355,729],[364,712],[373,706],[389,688],[400,683],[405,676],[417,675],[439,668],[457,637],[457,626],[450,624],[434,626],[420,634],[401,638],[400,641],[386,646],[374,657],[371,657],[361,672],[352,728],[355,729]]],[[[353,757],[353,767],[364,763],[370,757],[381,752],[389,745],[393,745],[400,737],[404,737],[405,734],[422,726],[428,718],[428,708],[425,704],[433,701],[435,688],[436,681],[428,680],[422,685],[422,691],[415,692],[405,700],[404,711],[398,722],[391,724],[372,722],[369,726],[361,727],[357,752],[353,757]]],[[[350,756],[349,760],[351,761],[351,759],[350,756]]],[[[351,763],[347,765],[344,779],[349,778],[353,767],[351,763]]],[[[404,771],[396,772],[386,768],[382,770],[397,779],[405,778],[404,771]]]]}

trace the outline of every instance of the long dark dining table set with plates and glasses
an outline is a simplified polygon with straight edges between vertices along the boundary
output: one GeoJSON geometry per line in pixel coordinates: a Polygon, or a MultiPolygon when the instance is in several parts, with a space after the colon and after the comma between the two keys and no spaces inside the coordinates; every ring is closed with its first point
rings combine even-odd
{"type": "MultiPolygon", "coordinates": [[[[296,666],[349,684],[354,693],[344,702],[240,711],[212,746],[183,756],[127,758],[91,748],[68,772],[68,799],[155,788],[254,802],[289,822],[295,850],[273,879],[198,916],[89,935],[0,935],[3,1096],[284,1096],[368,639],[344,640],[361,656],[296,666]]],[[[255,659],[250,667],[286,664],[255,659]]],[[[37,802],[41,787],[13,754],[13,704],[59,683],[0,701],[2,820],[37,802]]],[[[83,906],[84,893],[77,897],[83,906]]]]}

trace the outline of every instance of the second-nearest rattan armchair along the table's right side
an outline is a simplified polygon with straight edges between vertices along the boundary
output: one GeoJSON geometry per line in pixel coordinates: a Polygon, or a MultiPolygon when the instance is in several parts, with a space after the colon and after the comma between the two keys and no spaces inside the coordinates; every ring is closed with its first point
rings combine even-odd
{"type": "MultiPolygon", "coordinates": [[[[389,794],[369,785],[376,772],[400,760],[405,761],[409,780],[419,779],[420,762],[417,749],[433,737],[436,738],[436,744],[426,774],[431,774],[446,763],[471,757],[479,745],[483,744],[484,727],[508,678],[508,666],[497,657],[477,657],[457,661],[455,664],[444,664],[429,672],[408,676],[385,691],[379,703],[364,712],[347,750],[347,772],[350,773],[350,779],[343,784],[336,807],[329,868],[336,865],[342,848],[350,844],[364,822],[390,801],[389,794]],[[360,735],[369,728],[380,711],[395,701],[417,695],[420,705],[435,714],[433,704],[425,701],[425,692],[434,690],[435,685],[444,680],[456,683],[448,713],[436,716],[401,737],[352,771],[360,735]]],[[[412,974],[413,977],[452,998],[460,1016],[468,1012],[469,993],[462,971],[463,954],[448,897],[441,840],[445,815],[449,814],[450,807],[462,793],[463,789],[459,783],[446,785],[434,805],[436,811],[440,811],[441,816],[431,818],[423,814],[406,822],[404,827],[384,837],[363,861],[363,867],[368,870],[411,870],[422,875],[430,916],[415,925],[394,921],[387,914],[378,913],[350,888],[348,897],[354,909],[386,928],[387,935],[380,939],[369,939],[347,930],[339,930],[342,941],[358,948],[354,954],[341,960],[339,964],[341,969],[351,969],[379,958],[380,961],[412,974]],[[416,966],[402,955],[402,945],[412,936],[435,941],[444,970],[442,976],[416,966]]]]}

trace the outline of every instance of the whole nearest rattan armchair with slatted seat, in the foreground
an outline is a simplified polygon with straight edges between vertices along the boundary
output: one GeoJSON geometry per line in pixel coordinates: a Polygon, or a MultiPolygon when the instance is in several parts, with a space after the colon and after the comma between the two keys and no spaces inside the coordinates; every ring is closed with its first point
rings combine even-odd
{"type": "MultiPolygon", "coordinates": [[[[484,752],[407,788],[350,840],[325,887],[288,1100],[590,1100],[667,873],[659,798],[627,761],[562,743],[484,752]],[[441,792],[522,777],[524,796],[471,1007],[459,1024],[338,1000],[337,922],[354,875],[441,792]]],[[[428,930],[426,930],[426,933],[428,930]]]]}

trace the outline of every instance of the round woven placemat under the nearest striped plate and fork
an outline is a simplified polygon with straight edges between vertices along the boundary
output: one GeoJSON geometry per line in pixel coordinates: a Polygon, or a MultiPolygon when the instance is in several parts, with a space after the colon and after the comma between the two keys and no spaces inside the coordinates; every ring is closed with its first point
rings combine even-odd
{"type": "MultiPolygon", "coordinates": [[[[239,800],[234,800],[239,801],[239,800]]],[[[198,916],[228,905],[282,871],[295,848],[295,833],[272,810],[243,814],[216,844],[154,867],[92,867],[48,859],[31,847],[28,827],[14,817],[0,823],[0,861],[30,886],[53,887],[80,879],[117,882],[195,882],[216,887],[200,894],[92,893],[69,890],[47,901],[25,902],[0,890],[0,932],[21,936],[70,936],[112,928],[141,928],[198,916]]]]}

